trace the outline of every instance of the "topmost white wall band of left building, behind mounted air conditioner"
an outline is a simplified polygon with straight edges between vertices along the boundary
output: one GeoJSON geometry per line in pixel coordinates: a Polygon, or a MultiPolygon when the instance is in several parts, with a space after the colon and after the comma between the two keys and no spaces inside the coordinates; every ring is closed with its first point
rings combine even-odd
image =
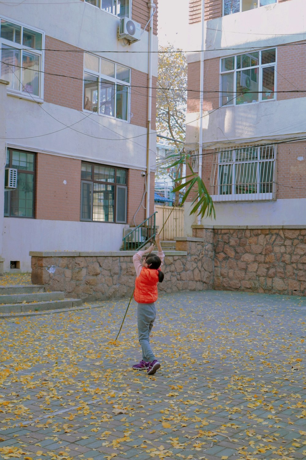
{"type": "MultiPolygon", "coordinates": [[[[10,5],[10,1],[1,3],[0,14],[42,29],[46,35],[57,40],[84,50],[101,51],[100,55],[107,59],[148,72],[147,31],[140,41],[124,45],[123,40],[117,40],[119,18],[85,1],[48,0],[34,3],[32,0],[25,0],[16,5],[16,2],[10,5]],[[144,58],[139,59],[138,52],[145,52],[144,58]]],[[[157,50],[157,37],[154,36],[153,40],[153,49],[157,50]]],[[[157,53],[153,53],[153,69],[153,75],[157,75],[157,53]]]]}

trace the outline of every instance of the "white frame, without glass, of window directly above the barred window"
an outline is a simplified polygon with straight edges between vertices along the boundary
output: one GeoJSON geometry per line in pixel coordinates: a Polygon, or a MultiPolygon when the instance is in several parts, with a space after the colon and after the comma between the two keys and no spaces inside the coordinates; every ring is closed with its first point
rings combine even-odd
{"type": "MultiPolygon", "coordinates": [[[[269,48],[265,48],[265,49],[262,49],[262,50],[251,50],[250,53],[253,53],[253,52],[258,52],[259,53],[259,64],[257,66],[250,66],[250,67],[241,67],[239,69],[237,69],[237,57],[238,56],[243,56],[244,54],[248,54],[247,52],[244,52],[244,53],[239,53],[239,54],[235,54],[235,55],[229,55],[229,56],[223,56],[220,58],[220,107],[229,107],[229,106],[240,106],[240,105],[245,105],[245,104],[258,104],[258,103],[262,103],[262,102],[268,102],[268,101],[275,101],[276,100],[276,95],[277,95],[277,47],[269,47],[269,48]],[[275,63],[268,63],[268,64],[260,64],[261,63],[261,53],[263,51],[267,51],[267,50],[272,50],[272,49],[275,49],[275,63]],[[226,71],[222,71],[222,59],[226,59],[227,57],[234,57],[234,69],[233,70],[226,70],[226,71]],[[274,67],[274,95],[273,95],[273,98],[270,98],[270,99],[262,99],[262,69],[265,69],[265,68],[268,68],[268,67],[274,67]],[[237,94],[236,94],[236,90],[237,90],[237,73],[238,72],[241,72],[242,70],[249,70],[249,69],[255,69],[255,68],[258,68],[259,72],[258,72],[258,101],[252,101],[252,102],[248,102],[248,103],[242,103],[242,104],[236,104],[236,99],[237,99],[237,94]],[[228,104],[222,104],[222,98],[223,98],[223,86],[222,86],[222,76],[223,75],[230,75],[230,74],[234,74],[234,82],[233,82],[233,90],[234,90],[234,93],[233,93],[233,100],[231,101],[231,103],[228,103],[228,104]]],[[[250,91],[251,93],[251,91],[250,91]]]]}

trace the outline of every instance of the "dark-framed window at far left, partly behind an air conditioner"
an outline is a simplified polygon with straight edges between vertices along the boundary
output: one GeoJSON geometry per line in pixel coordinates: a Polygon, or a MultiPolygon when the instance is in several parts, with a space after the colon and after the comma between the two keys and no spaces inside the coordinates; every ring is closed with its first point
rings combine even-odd
{"type": "Polygon", "coordinates": [[[17,189],[4,193],[4,215],[34,217],[35,154],[6,151],[6,167],[17,169],[17,189]]]}

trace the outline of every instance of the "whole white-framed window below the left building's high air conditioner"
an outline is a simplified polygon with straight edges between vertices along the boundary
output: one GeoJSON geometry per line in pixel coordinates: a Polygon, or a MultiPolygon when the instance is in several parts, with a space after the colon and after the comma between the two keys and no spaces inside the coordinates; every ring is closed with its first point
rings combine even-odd
{"type": "Polygon", "coordinates": [[[128,121],[130,69],[84,53],[84,110],[128,121]]]}

